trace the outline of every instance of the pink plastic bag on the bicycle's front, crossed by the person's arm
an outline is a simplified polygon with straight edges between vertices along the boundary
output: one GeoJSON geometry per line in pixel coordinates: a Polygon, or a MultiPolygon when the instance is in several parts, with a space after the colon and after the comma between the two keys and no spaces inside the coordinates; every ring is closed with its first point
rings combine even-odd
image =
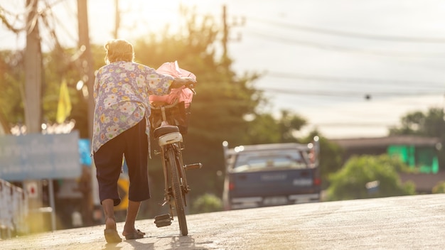
{"type": "MultiPolygon", "coordinates": [[[[172,77],[191,77],[196,80],[196,76],[187,70],[183,70],[178,66],[178,61],[175,62],[164,62],[163,65],[158,67],[156,72],[163,75],[171,75],[172,77]]],[[[150,95],[150,104],[154,102],[163,102],[166,104],[173,104],[175,100],[178,102],[184,102],[186,108],[190,106],[193,98],[193,91],[188,87],[180,87],[178,89],[171,89],[170,94],[163,96],[150,95]]]]}

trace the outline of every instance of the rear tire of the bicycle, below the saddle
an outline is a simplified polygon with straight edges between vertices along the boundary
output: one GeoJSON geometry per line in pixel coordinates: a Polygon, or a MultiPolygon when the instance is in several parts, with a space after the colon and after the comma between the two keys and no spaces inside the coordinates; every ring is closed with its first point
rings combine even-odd
{"type": "Polygon", "coordinates": [[[175,201],[176,216],[178,217],[179,230],[183,236],[188,234],[186,212],[184,211],[183,193],[181,189],[180,175],[178,174],[178,162],[176,161],[173,148],[167,152],[168,163],[171,170],[171,185],[173,190],[173,200],[175,201]]]}

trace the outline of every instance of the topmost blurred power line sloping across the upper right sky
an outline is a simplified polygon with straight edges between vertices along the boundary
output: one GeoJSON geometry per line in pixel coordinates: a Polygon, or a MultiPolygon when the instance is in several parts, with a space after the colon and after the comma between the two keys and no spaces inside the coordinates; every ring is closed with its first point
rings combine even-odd
{"type": "Polygon", "coordinates": [[[277,26],[280,28],[291,28],[294,30],[307,31],[311,33],[321,33],[324,35],[331,36],[343,36],[349,38],[363,38],[370,40],[385,40],[391,42],[404,42],[404,43],[445,43],[445,38],[421,38],[421,37],[413,37],[413,36],[383,36],[379,34],[371,34],[371,33],[357,33],[350,31],[338,31],[332,30],[328,28],[318,28],[313,26],[303,26],[294,23],[279,23],[276,21],[264,20],[262,18],[248,17],[252,21],[257,21],[259,23],[266,23],[269,25],[277,26]]]}

